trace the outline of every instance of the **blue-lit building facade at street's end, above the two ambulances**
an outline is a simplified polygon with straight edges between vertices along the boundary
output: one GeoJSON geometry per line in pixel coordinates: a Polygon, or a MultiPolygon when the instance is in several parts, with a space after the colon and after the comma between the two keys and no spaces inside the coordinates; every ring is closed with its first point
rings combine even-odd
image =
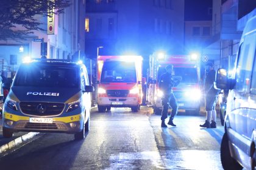
{"type": "Polygon", "coordinates": [[[159,50],[183,53],[183,8],[183,0],[88,0],[86,55],[136,54],[147,60],[159,50]]]}

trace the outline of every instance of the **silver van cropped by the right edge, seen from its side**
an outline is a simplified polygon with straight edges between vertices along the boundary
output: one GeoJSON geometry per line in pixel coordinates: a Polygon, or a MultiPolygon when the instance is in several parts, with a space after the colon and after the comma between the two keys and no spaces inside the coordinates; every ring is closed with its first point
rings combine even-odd
{"type": "Polygon", "coordinates": [[[224,169],[256,168],[256,16],[250,19],[240,41],[232,78],[216,72],[216,88],[228,89],[225,134],[221,141],[224,169]]]}

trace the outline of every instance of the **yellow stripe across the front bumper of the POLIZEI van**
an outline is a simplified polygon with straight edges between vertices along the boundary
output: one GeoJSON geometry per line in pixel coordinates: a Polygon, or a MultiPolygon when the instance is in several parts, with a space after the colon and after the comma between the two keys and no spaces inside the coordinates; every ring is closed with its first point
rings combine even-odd
{"type": "MultiPolygon", "coordinates": [[[[9,114],[9,113],[4,113],[4,118],[6,118],[8,120],[12,120],[12,121],[20,121],[20,120],[29,121],[29,117],[18,116],[18,115],[9,114]]],[[[52,117],[48,117],[48,118],[52,118],[52,117]]],[[[73,115],[73,116],[69,116],[69,117],[53,117],[52,121],[60,121],[63,123],[70,123],[73,121],[80,121],[81,118],[82,118],[81,114],[78,114],[78,115],[73,115]]]]}

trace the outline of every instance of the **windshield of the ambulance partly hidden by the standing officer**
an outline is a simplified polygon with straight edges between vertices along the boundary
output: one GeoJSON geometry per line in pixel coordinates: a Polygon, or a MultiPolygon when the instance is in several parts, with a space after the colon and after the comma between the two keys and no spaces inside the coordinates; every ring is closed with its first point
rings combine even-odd
{"type": "MultiPolygon", "coordinates": [[[[174,67],[173,77],[182,77],[181,83],[198,83],[197,69],[188,67],[174,67]]],[[[158,67],[157,80],[165,73],[165,67],[158,67]]]]}

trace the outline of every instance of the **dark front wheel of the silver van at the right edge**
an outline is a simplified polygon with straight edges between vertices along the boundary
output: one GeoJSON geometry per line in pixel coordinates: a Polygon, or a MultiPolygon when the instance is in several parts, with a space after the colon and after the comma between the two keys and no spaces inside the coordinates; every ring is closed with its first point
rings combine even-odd
{"type": "Polygon", "coordinates": [[[230,155],[229,150],[229,138],[227,137],[227,132],[224,133],[221,140],[221,164],[223,169],[232,169],[232,170],[240,170],[243,169],[234,158],[230,155]]]}

